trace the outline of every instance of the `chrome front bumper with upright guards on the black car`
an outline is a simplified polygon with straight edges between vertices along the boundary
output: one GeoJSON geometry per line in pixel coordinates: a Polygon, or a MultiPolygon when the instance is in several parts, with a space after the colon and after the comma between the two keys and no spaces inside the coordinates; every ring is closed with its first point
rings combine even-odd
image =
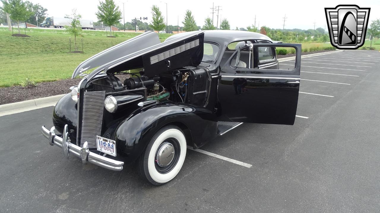
{"type": "Polygon", "coordinates": [[[67,124],[63,128],[63,138],[56,136],[54,133],[55,128],[52,127],[50,131],[45,128],[45,126],[41,127],[42,135],[45,138],[49,139],[49,144],[51,146],[57,145],[63,149],[63,155],[69,158],[70,153],[75,155],[78,158],[82,159],[82,163],[86,164],[90,162],[97,166],[101,166],[106,169],[111,169],[114,171],[120,171],[123,169],[124,162],[113,160],[111,158],[106,158],[101,155],[90,152],[87,142],[83,144],[83,147],[76,146],[75,144],[70,143],[70,138],[68,137],[67,124]]]}

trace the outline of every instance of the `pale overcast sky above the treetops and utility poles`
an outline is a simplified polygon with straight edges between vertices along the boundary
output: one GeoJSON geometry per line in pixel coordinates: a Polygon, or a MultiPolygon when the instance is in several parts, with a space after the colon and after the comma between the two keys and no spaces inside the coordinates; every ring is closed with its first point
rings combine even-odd
{"type": "MultiPolygon", "coordinates": [[[[76,8],[83,19],[97,20],[95,13],[97,12],[98,0],[29,0],[33,3],[39,3],[44,8],[47,8],[48,16],[63,17],[71,13],[71,9],[76,8]]],[[[148,17],[148,22],[152,20],[151,7],[157,5],[166,20],[166,4],[163,2],[152,0],[132,0],[132,1],[115,1],[120,6],[120,10],[124,13],[125,22],[134,19],[135,17],[148,17]]],[[[356,4],[359,7],[370,7],[370,20],[380,19],[380,1],[379,0],[313,0],[313,1],[241,1],[241,0],[165,0],[168,3],[168,24],[182,26],[181,22],[184,19],[186,9],[190,9],[195,17],[196,24],[203,26],[206,17],[212,18],[212,3],[215,6],[220,6],[220,18],[228,19],[231,29],[236,27],[247,28],[253,25],[256,15],[256,26],[265,25],[270,28],[282,28],[283,17],[286,14],[285,28],[293,29],[313,29],[325,28],[326,17],[325,7],[335,7],[339,4],[356,4]]],[[[217,11],[214,11],[214,25],[217,24],[217,11]]],[[[123,20],[121,20],[121,23],[123,20]]],[[[369,22],[370,23],[370,22],[369,22]]],[[[220,21],[219,24],[220,25],[220,21]]],[[[326,27],[327,30],[327,27],[326,27]]]]}

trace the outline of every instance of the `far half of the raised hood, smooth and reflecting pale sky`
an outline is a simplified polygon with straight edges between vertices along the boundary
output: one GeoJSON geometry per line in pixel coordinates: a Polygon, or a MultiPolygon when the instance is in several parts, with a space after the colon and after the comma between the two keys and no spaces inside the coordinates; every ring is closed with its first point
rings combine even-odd
{"type": "Polygon", "coordinates": [[[120,56],[129,55],[156,44],[160,44],[160,39],[158,38],[157,33],[154,33],[152,31],[142,33],[136,37],[128,39],[127,41],[110,47],[88,58],[86,61],[83,61],[81,64],[79,64],[78,67],[76,67],[71,78],[75,78],[77,75],[88,69],[92,69],[94,67],[98,67],[114,61],[120,58],[120,56]]]}

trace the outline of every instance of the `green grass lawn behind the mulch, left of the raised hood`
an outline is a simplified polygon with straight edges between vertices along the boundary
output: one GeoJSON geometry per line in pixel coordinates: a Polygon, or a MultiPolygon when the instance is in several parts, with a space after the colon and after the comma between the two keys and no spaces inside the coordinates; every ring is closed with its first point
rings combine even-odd
{"type": "MultiPolygon", "coordinates": [[[[27,35],[31,37],[28,38],[14,37],[11,34],[8,28],[0,28],[0,87],[19,85],[26,78],[36,83],[70,78],[82,61],[140,33],[116,32],[116,38],[107,38],[105,31],[84,30],[85,53],[69,53],[69,38],[71,37],[71,51],[74,51],[74,38],[65,30],[29,28],[27,35]]],[[[160,34],[161,42],[170,35],[173,34],[160,34]]],[[[77,38],[77,43],[78,50],[81,51],[81,38],[77,38]]]]}

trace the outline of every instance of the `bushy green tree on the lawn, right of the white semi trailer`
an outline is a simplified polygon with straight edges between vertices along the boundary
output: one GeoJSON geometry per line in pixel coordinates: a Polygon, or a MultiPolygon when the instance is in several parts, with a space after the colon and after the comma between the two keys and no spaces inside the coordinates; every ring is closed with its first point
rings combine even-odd
{"type": "Polygon", "coordinates": [[[99,2],[98,12],[95,13],[98,20],[109,26],[109,31],[112,33],[111,26],[119,23],[122,19],[119,6],[115,5],[113,0],[105,0],[105,2],[99,2]]]}

